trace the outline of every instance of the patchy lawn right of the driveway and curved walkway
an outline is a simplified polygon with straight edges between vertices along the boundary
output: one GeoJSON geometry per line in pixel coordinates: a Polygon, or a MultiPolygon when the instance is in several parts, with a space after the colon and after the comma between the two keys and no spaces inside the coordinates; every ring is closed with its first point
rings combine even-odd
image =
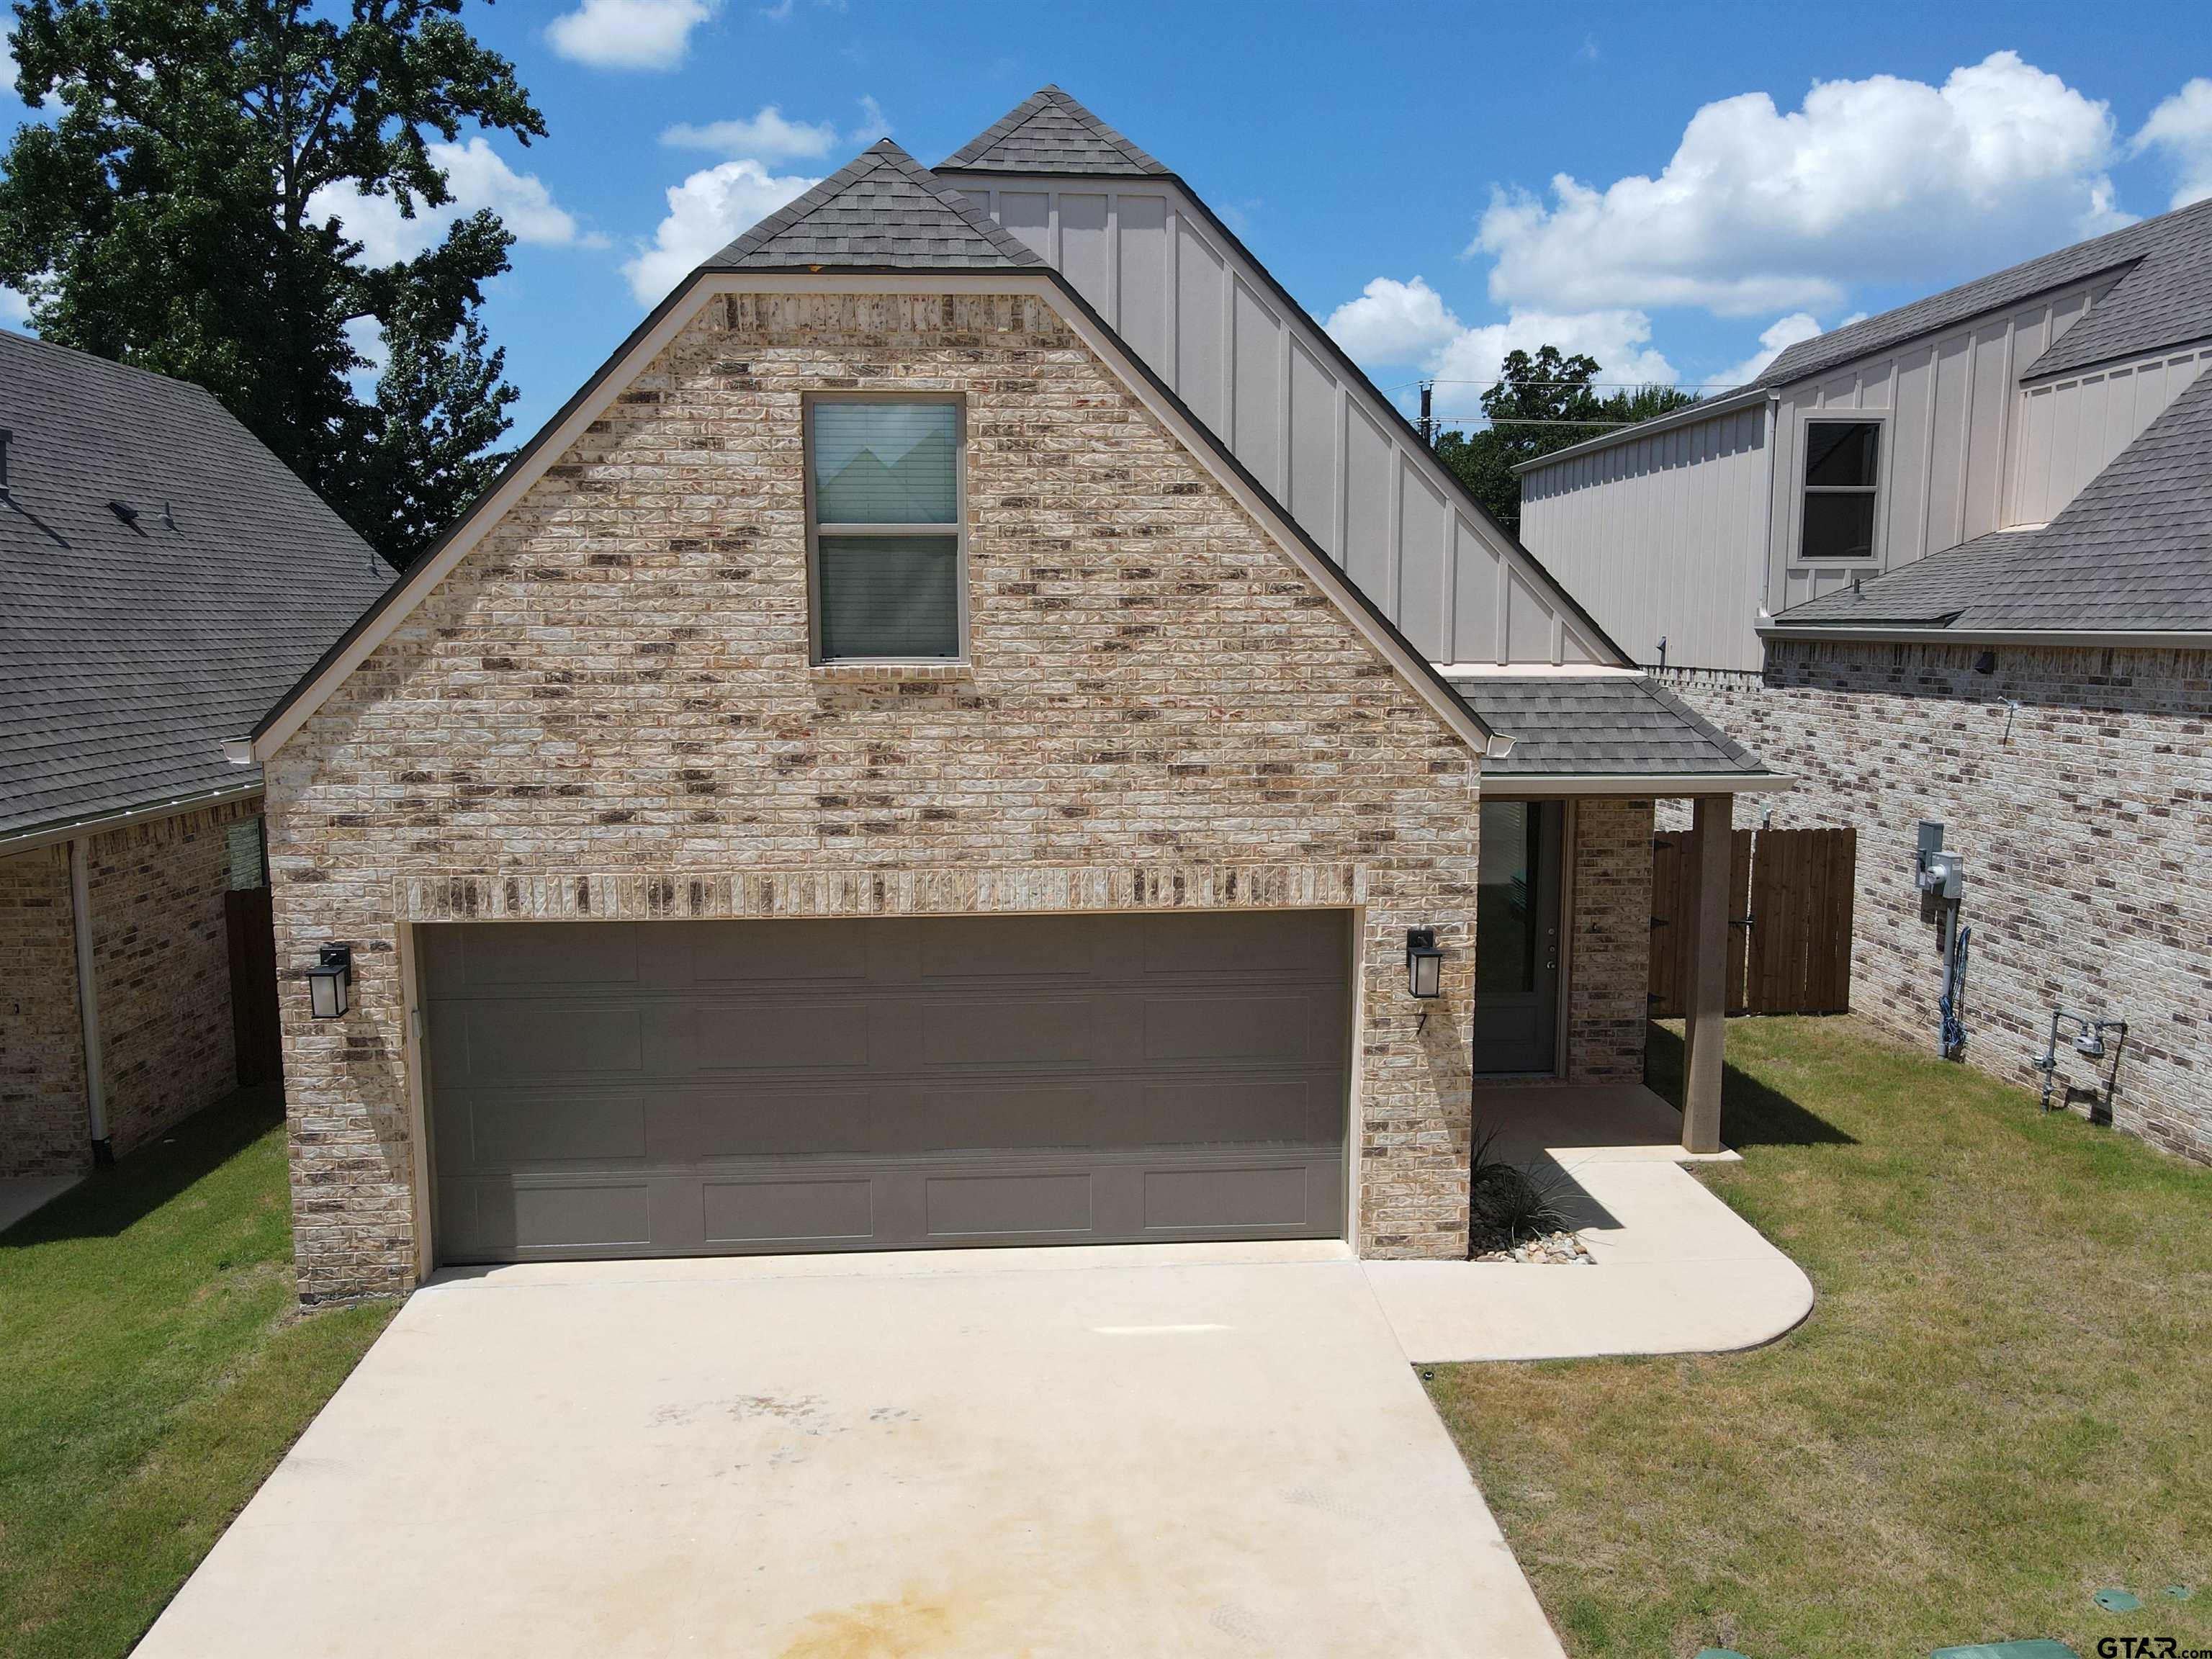
{"type": "MultiPolygon", "coordinates": [[[[1734,1020],[1728,1057],[1743,1164],[1701,1175],[1812,1318],[1429,1385],[1568,1652],[2212,1648],[2212,1170],[1849,1020],[1734,1020]]],[[[1670,1097],[1679,1060],[1655,1031],[1670,1097]]]]}

